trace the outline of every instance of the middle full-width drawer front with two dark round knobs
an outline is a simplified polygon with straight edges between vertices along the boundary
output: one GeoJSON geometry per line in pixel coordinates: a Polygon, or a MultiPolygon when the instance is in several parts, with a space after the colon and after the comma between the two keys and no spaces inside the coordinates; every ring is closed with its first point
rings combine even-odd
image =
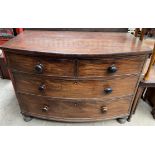
{"type": "Polygon", "coordinates": [[[134,93],[137,76],[110,80],[58,80],[14,74],[18,92],[66,98],[111,98],[134,93]]]}

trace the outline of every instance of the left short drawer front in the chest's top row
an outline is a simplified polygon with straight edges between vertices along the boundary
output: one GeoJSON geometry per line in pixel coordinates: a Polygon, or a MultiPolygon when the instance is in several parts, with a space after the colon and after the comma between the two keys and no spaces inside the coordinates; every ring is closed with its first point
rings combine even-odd
{"type": "Polygon", "coordinates": [[[7,57],[9,67],[13,70],[64,77],[71,77],[74,74],[74,63],[72,60],[31,57],[12,53],[8,53],[7,57]]]}

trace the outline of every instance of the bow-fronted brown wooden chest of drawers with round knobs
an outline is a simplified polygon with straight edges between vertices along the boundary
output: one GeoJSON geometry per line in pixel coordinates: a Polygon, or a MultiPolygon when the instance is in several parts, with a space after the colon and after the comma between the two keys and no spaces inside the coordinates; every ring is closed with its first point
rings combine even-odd
{"type": "Polygon", "coordinates": [[[127,33],[25,31],[1,49],[25,120],[130,115],[151,50],[127,33]]]}

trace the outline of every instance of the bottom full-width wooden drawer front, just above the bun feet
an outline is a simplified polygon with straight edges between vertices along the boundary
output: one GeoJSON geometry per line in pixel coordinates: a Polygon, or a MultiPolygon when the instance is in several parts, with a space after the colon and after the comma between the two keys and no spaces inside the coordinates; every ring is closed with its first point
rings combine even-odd
{"type": "Polygon", "coordinates": [[[38,115],[44,118],[63,119],[106,119],[128,115],[131,97],[101,100],[62,100],[49,99],[35,95],[19,95],[23,113],[38,115]]]}

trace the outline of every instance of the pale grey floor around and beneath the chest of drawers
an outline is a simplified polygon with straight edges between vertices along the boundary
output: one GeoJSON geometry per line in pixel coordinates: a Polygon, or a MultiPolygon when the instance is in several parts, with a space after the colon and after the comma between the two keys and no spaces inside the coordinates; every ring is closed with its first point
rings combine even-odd
{"type": "Polygon", "coordinates": [[[10,80],[0,79],[0,125],[1,126],[132,126],[148,125],[154,126],[155,120],[150,114],[151,107],[140,100],[136,114],[133,115],[131,122],[119,124],[116,120],[107,120],[93,123],[61,123],[41,119],[32,119],[25,122],[20,114],[19,105],[10,80]]]}

